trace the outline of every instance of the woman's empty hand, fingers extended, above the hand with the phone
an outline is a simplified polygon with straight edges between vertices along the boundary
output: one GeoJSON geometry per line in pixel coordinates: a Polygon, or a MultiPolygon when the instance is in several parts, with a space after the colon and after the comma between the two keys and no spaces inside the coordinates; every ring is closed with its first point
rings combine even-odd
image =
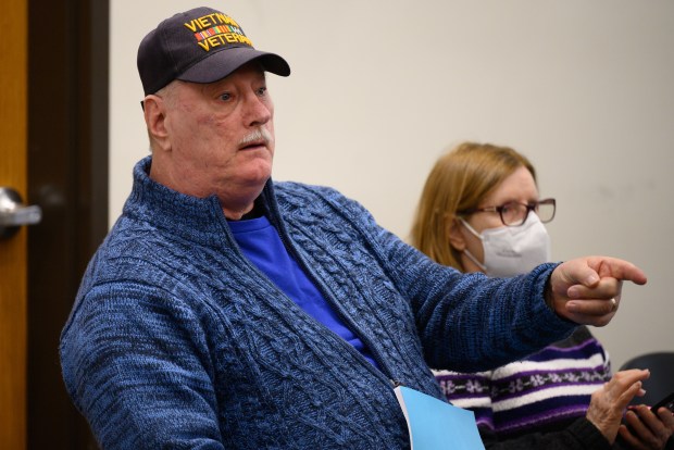
{"type": "Polygon", "coordinates": [[[635,396],[644,396],[641,380],[650,372],[639,368],[616,372],[613,377],[592,393],[585,416],[601,432],[610,443],[615,441],[623,418],[623,411],[635,396]]]}

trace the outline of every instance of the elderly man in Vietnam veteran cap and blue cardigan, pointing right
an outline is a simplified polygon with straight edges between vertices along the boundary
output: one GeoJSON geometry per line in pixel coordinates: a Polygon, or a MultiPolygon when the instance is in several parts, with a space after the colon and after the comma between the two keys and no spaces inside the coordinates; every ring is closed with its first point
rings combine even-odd
{"type": "Polygon", "coordinates": [[[601,257],[462,275],[333,189],[273,183],[265,72],[290,68],[226,14],[165,20],[138,68],[152,154],[60,348],[103,448],[407,448],[395,385],[441,398],[427,364],[503,364],[607,324],[622,280],[646,283],[601,257]]]}

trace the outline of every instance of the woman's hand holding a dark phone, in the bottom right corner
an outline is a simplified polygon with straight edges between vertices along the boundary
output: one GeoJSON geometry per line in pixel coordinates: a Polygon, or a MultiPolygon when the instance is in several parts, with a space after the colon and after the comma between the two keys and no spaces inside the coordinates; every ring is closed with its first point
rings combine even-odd
{"type": "Polygon", "coordinates": [[[662,450],[674,434],[674,414],[666,408],[660,408],[657,415],[644,404],[629,408],[625,422],[620,435],[634,449],[662,450]]]}

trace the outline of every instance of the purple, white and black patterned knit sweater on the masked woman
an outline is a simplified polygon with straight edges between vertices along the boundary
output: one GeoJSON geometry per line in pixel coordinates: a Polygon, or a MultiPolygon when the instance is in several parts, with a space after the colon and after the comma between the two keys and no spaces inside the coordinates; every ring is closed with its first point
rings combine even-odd
{"type": "Polygon", "coordinates": [[[557,448],[560,434],[550,432],[563,432],[585,417],[591,393],[611,378],[607,353],[585,326],[494,371],[434,373],[447,400],[474,411],[483,437],[503,449],[535,448],[527,442],[537,433],[548,434],[537,445],[547,439],[557,448]]]}

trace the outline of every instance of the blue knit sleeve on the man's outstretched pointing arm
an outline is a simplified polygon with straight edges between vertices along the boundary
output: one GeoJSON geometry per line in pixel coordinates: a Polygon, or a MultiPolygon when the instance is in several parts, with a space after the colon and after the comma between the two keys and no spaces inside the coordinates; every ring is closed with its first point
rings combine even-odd
{"type": "Polygon", "coordinates": [[[542,264],[513,278],[462,274],[378,226],[358,202],[341,207],[407,298],[430,367],[490,370],[561,340],[577,326],[545,302],[546,285],[557,264],[542,264]]]}

